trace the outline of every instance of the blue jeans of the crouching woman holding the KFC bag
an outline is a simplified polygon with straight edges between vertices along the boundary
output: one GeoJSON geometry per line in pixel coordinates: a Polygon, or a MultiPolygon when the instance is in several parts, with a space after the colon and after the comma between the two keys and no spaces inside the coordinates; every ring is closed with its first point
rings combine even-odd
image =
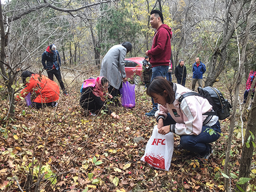
{"type": "MultiPolygon", "coordinates": [[[[164,126],[169,124],[176,124],[175,120],[167,114],[167,118],[163,121],[164,126]]],[[[190,152],[204,154],[209,151],[209,145],[207,143],[212,143],[219,139],[221,133],[220,122],[217,121],[211,127],[203,125],[202,131],[199,135],[180,135],[180,144],[182,147],[190,152]],[[210,135],[207,129],[212,129],[215,131],[214,134],[210,135]]]]}

